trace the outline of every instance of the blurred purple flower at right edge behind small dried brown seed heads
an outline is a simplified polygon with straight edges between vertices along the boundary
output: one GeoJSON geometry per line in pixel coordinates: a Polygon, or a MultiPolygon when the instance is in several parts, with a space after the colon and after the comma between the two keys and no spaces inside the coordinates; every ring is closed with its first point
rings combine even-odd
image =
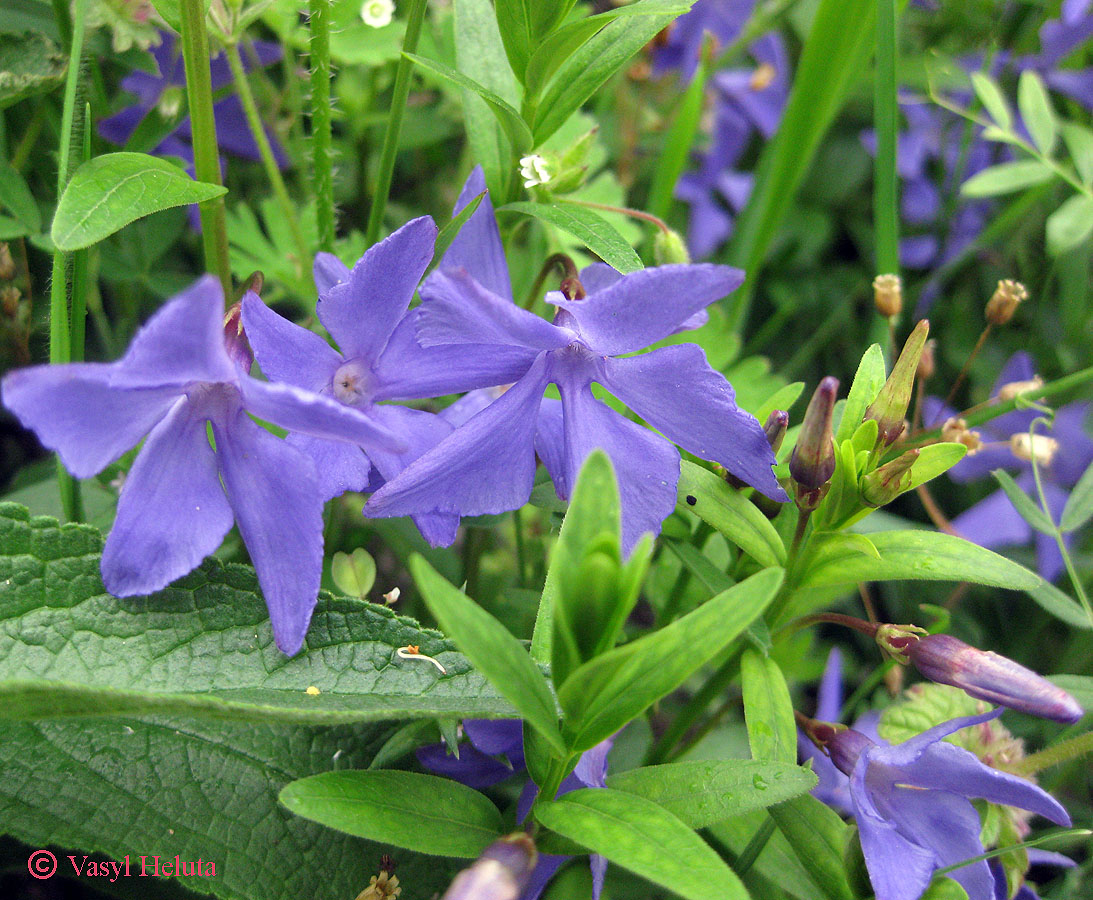
{"type": "MultiPolygon", "coordinates": [[[[1034,375],[1032,357],[1024,351],[1018,351],[1002,366],[990,396],[997,396],[1007,384],[1026,382],[1034,375]]],[[[1067,491],[1093,463],[1093,440],[1085,431],[1090,411],[1090,404],[1068,404],[1056,411],[1051,429],[1037,431],[1037,434],[1045,434],[1058,442],[1058,452],[1050,464],[1039,464],[1044,495],[1055,522],[1062,515],[1062,507],[1067,503],[1067,491]]],[[[927,425],[939,425],[955,414],[955,410],[945,407],[936,397],[927,397],[922,405],[924,422],[927,425]]],[[[1039,414],[1033,409],[1016,409],[980,425],[978,430],[984,447],[971,456],[965,456],[953,466],[949,470],[949,477],[953,481],[967,482],[987,478],[995,469],[1011,469],[1018,472],[1014,479],[1018,487],[1032,495],[1038,505],[1032,464],[1013,455],[1009,440],[1013,434],[1027,433],[1033,419],[1039,414]]],[[[952,524],[957,534],[989,549],[1026,545],[1035,538],[1039,573],[1048,581],[1055,581],[1065,569],[1055,538],[1034,531],[1001,490],[961,513],[952,524]]],[[[1072,539],[1072,535],[1063,535],[1068,548],[1072,539]]]]}

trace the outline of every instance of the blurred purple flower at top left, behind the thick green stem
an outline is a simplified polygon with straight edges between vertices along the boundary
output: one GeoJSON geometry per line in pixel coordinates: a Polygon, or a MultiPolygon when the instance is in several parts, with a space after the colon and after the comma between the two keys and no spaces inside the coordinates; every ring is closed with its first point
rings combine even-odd
{"type": "MultiPolygon", "coordinates": [[[[171,103],[175,108],[181,103],[180,90],[186,86],[181,51],[172,33],[161,32],[160,37],[160,46],[152,49],[152,56],[160,73],[155,75],[150,72],[134,71],[126,75],[121,80],[121,87],[130,94],[134,94],[137,102],[98,124],[99,136],[110,143],[126,144],[144,117],[162,102],[171,103]],[[178,93],[179,96],[171,97],[171,92],[178,93]]],[[[266,40],[251,42],[242,49],[243,65],[248,70],[255,65],[270,66],[283,56],[280,45],[266,40]]],[[[210,66],[213,92],[232,83],[232,70],[228,68],[224,54],[214,56],[210,66]]],[[[168,112],[165,118],[169,119],[173,115],[168,112]]],[[[216,122],[216,143],[221,150],[245,160],[257,162],[261,159],[258,153],[258,144],[255,143],[254,135],[250,133],[247,126],[243,104],[236,94],[230,94],[216,101],[213,104],[213,117],[216,122]]],[[[266,133],[270,139],[270,147],[278,165],[281,168],[286,168],[289,157],[269,129],[266,133]]],[[[186,116],[151,152],[156,156],[180,156],[189,164],[189,171],[192,175],[193,147],[191,138],[190,118],[186,116]]]]}

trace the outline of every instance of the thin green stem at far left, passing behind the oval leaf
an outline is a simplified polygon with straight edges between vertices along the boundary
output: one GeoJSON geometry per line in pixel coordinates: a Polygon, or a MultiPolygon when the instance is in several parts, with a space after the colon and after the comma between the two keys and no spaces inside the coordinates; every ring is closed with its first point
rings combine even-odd
{"type": "MultiPolygon", "coordinates": [[[[72,126],[75,120],[75,95],[80,86],[80,60],[83,56],[84,17],[87,0],[77,0],[75,21],[71,28],[69,45],[68,78],[64,82],[64,106],[61,112],[61,144],[57,165],[57,198],[60,199],[68,185],[69,156],[72,144],[72,126]]],[[[68,278],[64,254],[54,254],[52,276],[49,287],[49,362],[72,361],[72,325],[69,318],[68,278]]],[[[70,522],[83,518],[80,484],[57,460],[57,487],[61,495],[61,509],[70,522]]]]}

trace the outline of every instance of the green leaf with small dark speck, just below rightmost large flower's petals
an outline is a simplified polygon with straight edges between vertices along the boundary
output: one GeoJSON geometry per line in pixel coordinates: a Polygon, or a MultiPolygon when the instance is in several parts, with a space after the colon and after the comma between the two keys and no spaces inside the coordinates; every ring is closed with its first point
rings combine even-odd
{"type": "Polygon", "coordinates": [[[785,563],[786,547],[771,521],[708,469],[685,459],[680,464],[678,503],[679,509],[690,510],[760,565],[785,563]]]}

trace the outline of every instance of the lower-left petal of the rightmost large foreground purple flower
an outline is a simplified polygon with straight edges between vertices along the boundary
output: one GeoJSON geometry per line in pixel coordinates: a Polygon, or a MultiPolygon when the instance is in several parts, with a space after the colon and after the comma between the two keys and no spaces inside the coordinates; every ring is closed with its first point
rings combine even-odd
{"type": "Polygon", "coordinates": [[[369,516],[504,513],[534,480],[536,418],[549,377],[545,354],[520,381],[372,495],[369,516]]]}

